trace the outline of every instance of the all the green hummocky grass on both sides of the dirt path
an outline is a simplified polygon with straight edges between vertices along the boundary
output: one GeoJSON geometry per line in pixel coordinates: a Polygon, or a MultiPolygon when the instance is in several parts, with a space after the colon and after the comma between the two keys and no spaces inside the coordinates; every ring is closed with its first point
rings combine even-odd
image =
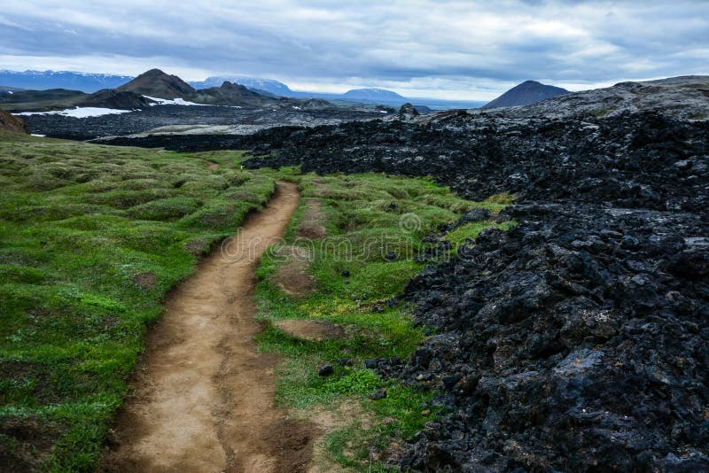
{"type": "MultiPolygon", "coordinates": [[[[175,153],[0,132],[0,469],[90,471],[127,393],[126,380],[168,291],[275,189],[304,199],[286,239],[308,246],[315,291],[286,295],[269,249],[257,271],[262,351],[281,353],[277,401],[295,410],[355,403],[362,415],[323,439],[331,461],[383,470],[372,449],[409,438],[435,417],[431,393],[380,379],[368,358],[405,358],[425,337],[409,308],[387,301],[421,270],[425,236],[460,213],[497,212],[512,196],[457,198],[430,179],[300,175],[241,169],[238,151],[175,153]],[[214,166],[217,165],[217,166],[214,166]],[[298,226],[322,201],[324,240],[298,226]],[[389,256],[393,255],[393,258],[389,256]],[[348,276],[344,274],[347,272],[348,276]],[[344,337],[291,337],[273,322],[316,319],[344,337]],[[347,358],[351,366],[338,364],[347,358]],[[324,363],[334,376],[317,376],[324,363]],[[387,397],[370,400],[378,389],[387,397]]],[[[455,244],[488,222],[456,229],[455,244]]]]}

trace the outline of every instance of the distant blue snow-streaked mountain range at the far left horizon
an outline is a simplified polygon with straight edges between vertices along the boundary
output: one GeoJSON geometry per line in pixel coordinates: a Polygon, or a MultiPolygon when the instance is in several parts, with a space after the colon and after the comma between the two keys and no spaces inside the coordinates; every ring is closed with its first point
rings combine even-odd
{"type": "Polygon", "coordinates": [[[0,84],[19,89],[74,89],[95,92],[99,89],[113,89],[131,79],[132,77],[127,75],[114,74],[0,70],[0,84]]]}

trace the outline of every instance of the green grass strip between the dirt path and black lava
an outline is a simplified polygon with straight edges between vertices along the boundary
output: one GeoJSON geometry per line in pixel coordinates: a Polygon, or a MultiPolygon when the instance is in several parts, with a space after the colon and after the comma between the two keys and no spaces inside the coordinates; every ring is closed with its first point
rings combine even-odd
{"type": "MultiPolygon", "coordinates": [[[[262,351],[284,356],[277,381],[280,405],[304,415],[353,403],[361,408],[362,415],[323,439],[327,461],[354,470],[382,471],[385,466],[370,458],[371,451],[410,438],[439,412],[431,405],[432,393],[384,381],[364,368],[363,361],[370,358],[405,359],[425,337],[425,328],[414,326],[409,307],[388,301],[423,268],[415,257],[426,246],[425,236],[472,208],[499,212],[513,197],[505,194],[471,202],[429,179],[383,174],[308,174],[299,179],[304,198],[286,240],[308,249],[308,272],[315,278],[315,290],[305,297],[281,291],[275,275],[284,259],[276,248],[266,252],[257,270],[256,288],[258,314],[266,329],[257,341],[262,351]],[[327,229],[327,236],[315,242],[300,239],[296,230],[308,218],[308,198],[321,199],[321,224],[327,229]],[[389,258],[390,252],[395,258],[389,258]],[[343,327],[346,335],[321,341],[299,339],[274,323],[288,319],[331,322],[343,327]],[[339,363],[341,359],[351,366],[339,363]],[[335,372],[322,378],[317,371],[325,363],[332,364],[335,372]],[[371,400],[370,395],[382,388],[386,398],[371,400]]],[[[446,238],[455,248],[494,225],[492,221],[467,224],[446,238]]]]}

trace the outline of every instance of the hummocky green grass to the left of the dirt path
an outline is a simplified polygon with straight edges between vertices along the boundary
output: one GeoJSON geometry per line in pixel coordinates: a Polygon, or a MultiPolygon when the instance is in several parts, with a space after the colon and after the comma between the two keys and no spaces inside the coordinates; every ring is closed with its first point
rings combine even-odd
{"type": "Polygon", "coordinates": [[[166,293],[274,190],[240,159],[0,135],[0,469],[95,468],[166,293]]]}

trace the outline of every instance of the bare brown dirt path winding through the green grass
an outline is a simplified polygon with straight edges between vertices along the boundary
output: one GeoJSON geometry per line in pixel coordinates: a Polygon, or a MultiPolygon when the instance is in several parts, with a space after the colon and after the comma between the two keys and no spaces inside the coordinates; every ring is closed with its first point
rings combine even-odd
{"type": "Polygon", "coordinates": [[[245,221],[168,299],[102,464],[114,471],[305,471],[316,428],[273,406],[276,358],[256,353],[256,259],[280,238],[297,186],[245,221]],[[251,253],[251,254],[249,254],[251,253]]]}

